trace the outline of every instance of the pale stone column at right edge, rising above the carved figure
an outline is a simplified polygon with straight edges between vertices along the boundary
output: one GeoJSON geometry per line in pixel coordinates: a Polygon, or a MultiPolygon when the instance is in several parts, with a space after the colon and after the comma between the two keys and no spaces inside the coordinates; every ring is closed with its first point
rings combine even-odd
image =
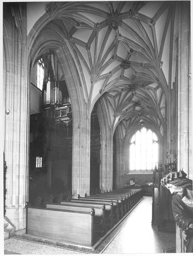
{"type": "Polygon", "coordinates": [[[191,123],[191,83],[190,64],[190,6],[180,4],[181,22],[179,24],[179,90],[178,90],[178,169],[184,169],[189,178],[192,171],[191,123]],[[190,147],[191,146],[191,147],[190,147]],[[190,166],[191,165],[191,166],[190,166]],[[191,170],[191,171],[190,171],[191,170]]]}

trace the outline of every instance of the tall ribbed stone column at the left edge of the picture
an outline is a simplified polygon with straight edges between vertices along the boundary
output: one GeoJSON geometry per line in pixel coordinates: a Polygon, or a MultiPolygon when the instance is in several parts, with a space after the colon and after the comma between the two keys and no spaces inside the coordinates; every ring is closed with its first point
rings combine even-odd
{"type": "Polygon", "coordinates": [[[3,108],[4,113],[7,113],[4,117],[4,151],[7,163],[6,216],[16,226],[16,230],[19,230],[26,226],[28,182],[26,3],[6,3],[3,12],[3,108]]]}

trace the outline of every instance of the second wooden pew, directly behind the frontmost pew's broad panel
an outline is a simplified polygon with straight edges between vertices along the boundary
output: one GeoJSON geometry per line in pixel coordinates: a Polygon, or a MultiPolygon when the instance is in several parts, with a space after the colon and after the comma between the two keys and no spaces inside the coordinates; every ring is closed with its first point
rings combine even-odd
{"type": "Polygon", "coordinates": [[[71,210],[71,211],[85,211],[85,208],[88,208],[90,210],[91,208],[95,209],[95,232],[96,235],[101,237],[104,236],[106,232],[105,227],[105,204],[97,205],[97,204],[81,204],[77,202],[72,201],[60,201],[60,204],[53,204],[48,203],[46,204],[46,208],[49,209],[65,209],[65,210],[71,210]]]}

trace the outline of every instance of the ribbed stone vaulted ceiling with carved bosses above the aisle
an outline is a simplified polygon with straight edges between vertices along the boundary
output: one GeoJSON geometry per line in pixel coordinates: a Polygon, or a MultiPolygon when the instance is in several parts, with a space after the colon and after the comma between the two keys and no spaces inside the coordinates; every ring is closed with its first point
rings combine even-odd
{"type": "Polygon", "coordinates": [[[111,125],[163,135],[174,81],[176,1],[51,2],[44,28],[65,38],[85,100],[103,98],[111,125]]]}

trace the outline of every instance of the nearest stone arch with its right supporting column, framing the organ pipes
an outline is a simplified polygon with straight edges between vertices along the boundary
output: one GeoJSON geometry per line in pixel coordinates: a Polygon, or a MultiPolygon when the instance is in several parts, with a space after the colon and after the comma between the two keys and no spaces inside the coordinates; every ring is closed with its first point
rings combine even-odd
{"type": "MultiPolygon", "coordinates": [[[[48,21],[48,20],[47,20],[48,21]]],[[[41,22],[41,20],[40,20],[41,22]]],[[[42,29],[43,27],[40,26],[42,29]]],[[[28,38],[29,42],[31,38],[28,38]]],[[[72,141],[72,195],[89,195],[90,182],[90,114],[88,102],[85,97],[75,57],[69,48],[67,39],[62,40],[59,35],[50,40],[46,31],[37,35],[29,52],[29,69],[32,70],[33,63],[38,55],[54,49],[65,74],[65,80],[72,104],[73,117],[73,141],[72,141]],[[82,161],[79,161],[83,159],[82,161]],[[82,186],[82,184],[85,186],[82,186]]],[[[30,73],[29,73],[30,74],[30,73]]]]}

